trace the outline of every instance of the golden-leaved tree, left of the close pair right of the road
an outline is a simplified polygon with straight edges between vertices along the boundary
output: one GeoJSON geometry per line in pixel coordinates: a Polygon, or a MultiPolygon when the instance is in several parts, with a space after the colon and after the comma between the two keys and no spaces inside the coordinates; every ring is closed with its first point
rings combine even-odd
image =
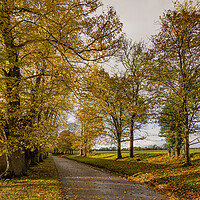
{"type": "Polygon", "coordinates": [[[110,76],[104,69],[97,68],[89,76],[87,88],[103,118],[107,136],[117,144],[117,158],[122,158],[121,144],[127,139],[127,107],[123,82],[124,79],[117,74],[110,76]]]}

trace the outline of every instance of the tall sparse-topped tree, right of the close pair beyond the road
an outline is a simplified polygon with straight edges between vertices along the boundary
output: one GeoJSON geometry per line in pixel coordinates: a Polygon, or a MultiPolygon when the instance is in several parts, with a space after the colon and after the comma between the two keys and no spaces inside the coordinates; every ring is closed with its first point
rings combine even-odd
{"type": "Polygon", "coordinates": [[[147,85],[145,56],[144,42],[133,43],[132,40],[124,39],[116,57],[117,61],[122,63],[125,68],[123,93],[129,107],[127,119],[130,129],[130,157],[133,157],[134,131],[140,129],[147,122],[150,108],[145,89],[147,85]]]}

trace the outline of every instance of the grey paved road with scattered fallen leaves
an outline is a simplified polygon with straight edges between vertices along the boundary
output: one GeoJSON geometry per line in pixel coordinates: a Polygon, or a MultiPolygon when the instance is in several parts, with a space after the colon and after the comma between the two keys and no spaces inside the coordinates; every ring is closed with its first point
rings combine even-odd
{"type": "Polygon", "coordinates": [[[53,156],[64,199],[155,200],[166,199],[144,185],[126,181],[103,170],[53,156]]]}

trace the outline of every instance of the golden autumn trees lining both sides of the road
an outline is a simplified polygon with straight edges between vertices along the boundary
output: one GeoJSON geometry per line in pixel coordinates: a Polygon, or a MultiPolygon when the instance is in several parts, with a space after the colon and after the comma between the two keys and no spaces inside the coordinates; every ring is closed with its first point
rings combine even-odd
{"type": "Polygon", "coordinates": [[[190,165],[189,135],[199,128],[198,1],[177,3],[165,12],[148,49],[123,39],[116,12],[109,8],[97,14],[101,5],[100,0],[1,1],[5,177],[22,175],[51,148],[70,110],[78,122],[70,137],[78,135],[81,152],[104,135],[117,143],[120,158],[121,142],[130,141],[132,157],[134,130],[166,108],[169,112],[163,110],[160,118],[163,130],[180,134],[190,165]],[[110,75],[97,64],[113,55],[125,73],[110,75]]]}

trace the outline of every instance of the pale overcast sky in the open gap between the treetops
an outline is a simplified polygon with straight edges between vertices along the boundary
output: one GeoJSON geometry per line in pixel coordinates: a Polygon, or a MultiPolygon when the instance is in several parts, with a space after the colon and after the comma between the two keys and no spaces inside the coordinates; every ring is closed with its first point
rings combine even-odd
{"type": "Polygon", "coordinates": [[[124,32],[133,41],[145,40],[158,32],[156,21],[173,8],[172,0],[102,0],[104,9],[113,6],[124,24],[124,32]]]}

